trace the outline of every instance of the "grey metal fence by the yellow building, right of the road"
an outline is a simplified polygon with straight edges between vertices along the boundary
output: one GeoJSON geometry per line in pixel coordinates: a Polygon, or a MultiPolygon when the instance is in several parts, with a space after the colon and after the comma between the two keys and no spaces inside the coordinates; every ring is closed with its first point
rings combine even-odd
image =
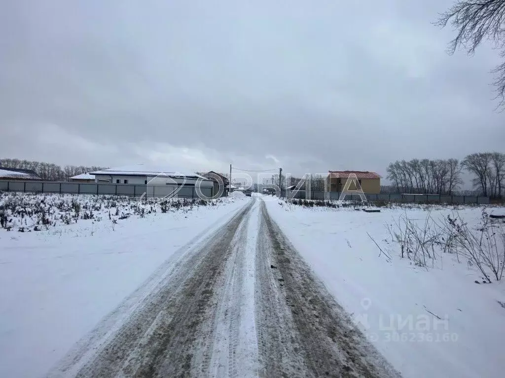
{"type": "MultiPolygon", "coordinates": [[[[305,199],[305,191],[295,193],[288,191],[288,198],[305,199]]],[[[368,201],[397,201],[420,204],[489,204],[489,197],[477,196],[444,196],[438,194],[365,194],[368,201]]],[[[311,192],[311,200],[324,200],[325,192],[311,192]]],[[[339,192],[327,192],[326,199],[338,200],[339,192]]],[[[361,200],[359,195],[346,195],[345,200],[361,200]]]]}

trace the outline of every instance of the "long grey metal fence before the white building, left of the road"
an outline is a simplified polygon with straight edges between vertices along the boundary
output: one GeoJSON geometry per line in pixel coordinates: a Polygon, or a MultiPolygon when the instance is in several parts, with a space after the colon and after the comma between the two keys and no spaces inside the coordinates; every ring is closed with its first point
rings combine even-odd
{"type": "MultiPolygon", "coordinates": [[[[178,198],[198,198],[194,186],[169,186],[169,185],[135,185],[135,184],[100,184],[81,182],[55,182],[55,181],[8,181],[0,180],[0,191],[31,192],[47,194],[91,194],[91,195],[117,195],[141,197],[144,193],[149,198],[164,198],[173,194],[175,190],[178,198]]],[[[207,197],[213,196],[212,187],[200,187],[200,191],[207,197]]]]}

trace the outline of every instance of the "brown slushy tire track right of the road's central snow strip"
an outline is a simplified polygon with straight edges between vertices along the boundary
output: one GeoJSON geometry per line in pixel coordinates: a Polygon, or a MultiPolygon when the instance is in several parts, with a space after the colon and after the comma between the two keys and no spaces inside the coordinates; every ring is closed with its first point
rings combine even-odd
{"type": "Polygon", "coordinates": [[[316,278],[263,201],[261,208],[257,267],[262,279],[256,281],[263,304],[257,308],[260,375],[399,377],[316,278]]]}

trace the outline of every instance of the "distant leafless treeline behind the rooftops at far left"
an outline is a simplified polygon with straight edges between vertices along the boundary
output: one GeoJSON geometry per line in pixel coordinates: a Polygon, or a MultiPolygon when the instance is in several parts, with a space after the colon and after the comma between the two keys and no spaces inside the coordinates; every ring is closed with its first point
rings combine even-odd
{"type": "Polygon", "coordinates": [[[42,179],[48,181],[66,181],[69,177],[77,174],[93,172],[105,167],[83,165],[65,165],[64,167],[53,163],[44,163],[40,161],[29,161],[20,159],[0,159],[0,167],[31,169],[35,171],[42,179]]]}

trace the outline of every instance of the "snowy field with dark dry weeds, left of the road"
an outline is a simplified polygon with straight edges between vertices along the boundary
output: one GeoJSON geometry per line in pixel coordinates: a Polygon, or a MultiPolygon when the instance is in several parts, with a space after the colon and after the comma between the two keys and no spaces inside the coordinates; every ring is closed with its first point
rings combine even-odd
{"type": "Polygon", "coordinates": [[[116,196],[1,196],[11,230],[0,229],[0,377],[43,374],[179,247],[248,200],[162,209],[116,196]]]}

